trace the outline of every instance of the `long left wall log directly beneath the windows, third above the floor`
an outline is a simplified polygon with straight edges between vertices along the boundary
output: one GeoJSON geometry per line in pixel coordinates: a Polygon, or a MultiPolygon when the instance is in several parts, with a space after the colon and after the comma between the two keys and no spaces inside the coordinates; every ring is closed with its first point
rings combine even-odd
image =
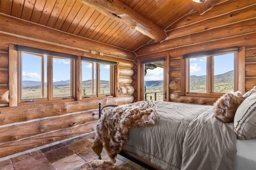
{"type": "Polygon", "coordinates": [[[73,102],[1,107],[0,125],[7,125],[10,123],[41,119],[43,117],[59,116],[72,112],[96,109],[98,108],[99,102],[102,105],[121,105],[133,103],[134,101],[134,96],[120,96],[118,98],[90,99],[73,102]]]}

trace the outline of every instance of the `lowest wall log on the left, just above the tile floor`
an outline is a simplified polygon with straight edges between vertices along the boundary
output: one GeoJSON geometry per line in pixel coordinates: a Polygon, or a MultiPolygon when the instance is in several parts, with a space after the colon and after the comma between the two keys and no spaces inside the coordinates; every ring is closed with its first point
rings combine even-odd
{"type": "Polygon", "coordinates": [[[0,145],[0,158],[14,153],[22,152],[28,149],[41,147],[50,143],[83,135],[83,137],[93,137],[97,121],[84,125],[61,129],[51,133],[45,133],[36,137],[30,137],[21,141],[14,141],[0,145]]]}

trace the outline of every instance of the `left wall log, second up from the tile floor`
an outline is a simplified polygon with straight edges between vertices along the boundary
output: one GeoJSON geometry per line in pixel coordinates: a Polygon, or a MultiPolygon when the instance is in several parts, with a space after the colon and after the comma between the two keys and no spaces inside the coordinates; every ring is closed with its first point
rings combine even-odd
{"type": "Polygon", "coordinates": [[[8,141],[17,141],[33,135],[56,131],[68,127],[73,127],[90,121],[98,120],[98,116],[92,116],[92,113],[97,113],[98,110],[85,111],[82,113],[64,115],[61,117],[50,117],[32,121],[28,123],[19,123],[16,125],[0,128],[0,143],[8,141]],[[32,128],[33,127],[33,128],[32,128]]]}

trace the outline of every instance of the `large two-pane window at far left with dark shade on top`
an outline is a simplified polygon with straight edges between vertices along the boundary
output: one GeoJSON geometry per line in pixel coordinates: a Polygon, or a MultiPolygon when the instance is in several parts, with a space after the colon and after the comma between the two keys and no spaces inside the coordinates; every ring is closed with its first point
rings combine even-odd
{"type": "Polygon", "coordinates": [[[24,46],[18,51],[18,103],[74,100],[77,56],[24,46]]]}

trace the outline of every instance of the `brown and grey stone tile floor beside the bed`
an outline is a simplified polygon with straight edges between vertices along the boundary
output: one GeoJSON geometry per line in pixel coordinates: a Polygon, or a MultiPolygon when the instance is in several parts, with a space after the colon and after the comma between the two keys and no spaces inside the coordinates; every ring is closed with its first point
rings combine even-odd
{"type": "MultiPolygon", "coordinates": [[[[93,141],[93,138],[78,137],[35,150],[0,162],[0,170],[79,170],[84,163],[98,159],[91,148],[93,141]]],[[[104,150],[102,160],[110,160],[104,150]]],[[[121,155],[117,156],[116,165],[125,166],[131,170],[146,170],[121,155]]]]}

